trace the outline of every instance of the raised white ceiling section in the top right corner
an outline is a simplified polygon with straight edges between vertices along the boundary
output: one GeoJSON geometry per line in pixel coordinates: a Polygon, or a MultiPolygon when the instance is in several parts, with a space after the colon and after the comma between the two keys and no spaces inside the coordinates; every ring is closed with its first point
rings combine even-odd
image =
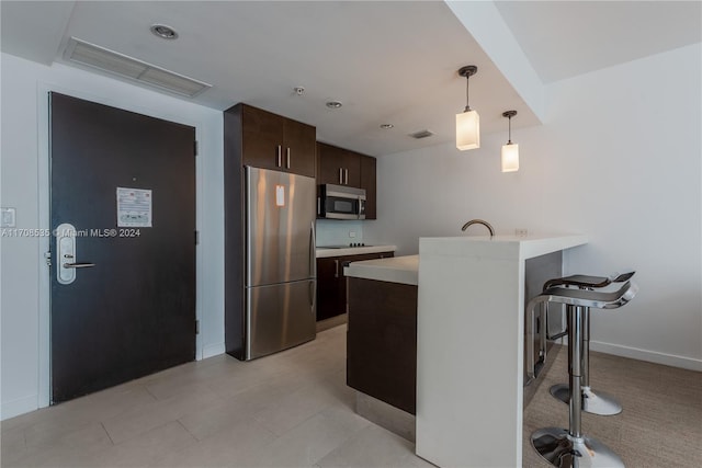
{"type": "Polygon", "coordinates": [[[702,41],[702,1],[497,1],[544,83],[702,41]]]}

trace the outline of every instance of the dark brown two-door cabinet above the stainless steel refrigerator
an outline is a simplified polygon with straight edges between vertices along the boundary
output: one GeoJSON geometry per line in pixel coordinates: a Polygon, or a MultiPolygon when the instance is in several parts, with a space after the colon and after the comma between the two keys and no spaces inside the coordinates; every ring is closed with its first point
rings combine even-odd
{"type": "Polygon", "coordinates": [[[316,176],[315,127],[247,104],[225,113],[237,119],[226,128],[240,133],[244,165],[316,176]]]}

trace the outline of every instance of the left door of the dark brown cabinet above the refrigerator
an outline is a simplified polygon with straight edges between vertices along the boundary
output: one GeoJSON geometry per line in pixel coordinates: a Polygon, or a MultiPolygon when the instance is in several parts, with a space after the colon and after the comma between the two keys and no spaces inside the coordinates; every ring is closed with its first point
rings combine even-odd
{"type": "Polygon", "coordinates": [[[282,170],[285,117],[242,105],[244,165],[282,170]]]}

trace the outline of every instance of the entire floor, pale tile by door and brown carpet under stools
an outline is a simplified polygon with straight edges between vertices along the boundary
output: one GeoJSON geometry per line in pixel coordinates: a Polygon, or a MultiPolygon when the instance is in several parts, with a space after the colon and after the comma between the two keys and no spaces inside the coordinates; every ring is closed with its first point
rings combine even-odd
{"type": "MultiPolygon", "coordinates": [[[[547,397],[558,353],[524,413],[524,433],[567,424],[547,397]]],[[[627,466],[702,466],[699,373],[593,355],[625,412],[584,429],[627,466]],[[624,378],[626,381],[621,381],[624,378]],[[624,385],[624,387],[621,387],[624,385]],[[630,391],[631,390],[631,391],[630,391]],[[627,408],[629,407],[629,408],[627,408]],[[639,444],[645,444],[641,446],[639,444]]],[[[2,467],[431,467],[414,445],[353,412],[346,326],[273,356],[220,355],[3,421],[2,467]]],[[[595,377],[595,376],[593,376],[595,377]]],[[[593,378],[595,383],[595,378],[593,378]]],[[[601,418],[601,416],[600,416],[601,418]]],[[[524,466],[547,466],[524,440],[524,466]]]]}

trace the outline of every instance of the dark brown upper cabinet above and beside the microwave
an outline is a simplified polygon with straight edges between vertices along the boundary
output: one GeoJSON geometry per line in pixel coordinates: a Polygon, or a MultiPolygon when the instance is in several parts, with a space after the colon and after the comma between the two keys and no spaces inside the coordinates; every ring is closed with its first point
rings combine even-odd
{"type": "Polygon", "coordinates": [[[317,141],[317,183],[365,189],[365,219],[376,219],[375,158],[317,141]]]}

